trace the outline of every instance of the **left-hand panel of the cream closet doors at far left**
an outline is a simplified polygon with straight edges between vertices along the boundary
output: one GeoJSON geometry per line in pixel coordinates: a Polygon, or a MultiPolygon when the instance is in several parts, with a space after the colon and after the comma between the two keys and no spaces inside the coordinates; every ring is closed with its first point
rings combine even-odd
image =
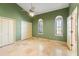
{"type": "Polygon", "coordinates": [[[2,46],[9,42],[9,23],[8,19],[2,18],[2,46]]]}

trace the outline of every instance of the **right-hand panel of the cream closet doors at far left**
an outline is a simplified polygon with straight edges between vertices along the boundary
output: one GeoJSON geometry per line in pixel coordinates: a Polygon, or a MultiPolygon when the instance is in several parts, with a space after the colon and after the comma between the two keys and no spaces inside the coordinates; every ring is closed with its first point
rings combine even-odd
{"type": "Polygon", "coordinates": [[[9,30],[9,33],[8,33],[8,35],[9,35],[9,39],[8,39],[8,41],[9,41],[9,43],[13,43],[14,41],[15,41],[15,20],[14,19],[9,19],[8,20],[9,22],[8,22],[8,30],[9,30]]]}

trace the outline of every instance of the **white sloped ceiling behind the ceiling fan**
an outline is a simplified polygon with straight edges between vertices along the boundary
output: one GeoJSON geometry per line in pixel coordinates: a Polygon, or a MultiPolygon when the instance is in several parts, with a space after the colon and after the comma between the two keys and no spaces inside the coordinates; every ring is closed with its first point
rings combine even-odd
{"type": "MultiPolygon", "coordinates": [[[[31,3],[17,3],[25,11],[29,12],[31,3]]],[[[69,6],[68,3],[32,3],[35,7],[35,15],[66,8],[69,6]]]]}

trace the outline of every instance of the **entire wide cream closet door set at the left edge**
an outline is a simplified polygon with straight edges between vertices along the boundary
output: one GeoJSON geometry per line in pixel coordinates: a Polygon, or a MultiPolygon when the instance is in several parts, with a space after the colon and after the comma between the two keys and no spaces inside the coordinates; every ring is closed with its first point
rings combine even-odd
{"type": "Polygon", "coordinates": [[[0,17],[0,46],[11,44],[16,39],[15,20],[6,17],[0,17]]]}

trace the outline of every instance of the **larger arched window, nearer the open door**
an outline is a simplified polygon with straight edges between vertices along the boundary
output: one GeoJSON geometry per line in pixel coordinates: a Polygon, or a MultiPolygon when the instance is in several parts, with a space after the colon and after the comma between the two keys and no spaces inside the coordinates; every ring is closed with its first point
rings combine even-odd
{"type": "Polygon", "coordinates": [[[55,34],[56,36],[63,36],[63,17],[57,16],[55,18],[55,34]]]}

